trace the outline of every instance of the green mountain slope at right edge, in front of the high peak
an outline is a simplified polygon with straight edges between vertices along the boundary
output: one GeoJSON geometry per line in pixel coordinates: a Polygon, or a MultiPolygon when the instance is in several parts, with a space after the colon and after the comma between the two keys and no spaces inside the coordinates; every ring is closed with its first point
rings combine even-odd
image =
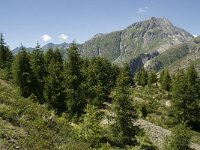
{"type": "Polygon", "coordinates": [[[177,69],[187,68],[191,63],[195,64],[200,73],[200,37],[168,49],[145,64],[145,67],[155,71],[168,68],[171,72],[176,72],[177,69]]]}

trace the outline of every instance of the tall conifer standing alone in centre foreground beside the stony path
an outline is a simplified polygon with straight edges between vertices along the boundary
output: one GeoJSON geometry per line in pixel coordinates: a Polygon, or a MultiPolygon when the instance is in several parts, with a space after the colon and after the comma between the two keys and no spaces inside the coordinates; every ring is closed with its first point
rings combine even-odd
{"type": "Polygon", "coordinates": [[[137,119],[136,109],[131,103],[129,94],[129,77],[122,71],[117,80],[116,95],[113,97],[112,110],[114,113],[112,130],[123,145],[134,145],[139,128],[134,126],[137,119]]]}

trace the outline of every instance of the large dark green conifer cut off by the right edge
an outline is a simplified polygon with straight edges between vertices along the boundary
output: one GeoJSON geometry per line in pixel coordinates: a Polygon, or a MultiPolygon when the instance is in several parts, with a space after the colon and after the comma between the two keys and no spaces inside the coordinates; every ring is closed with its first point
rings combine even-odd
{"type": "Polygon", "coordinates": [[[172,111],[176,122],[188,122],[197,129],[200,125],[199,85],[197,72],[190,66],[186,73],[179,71],[172,86],[172,111]]]}

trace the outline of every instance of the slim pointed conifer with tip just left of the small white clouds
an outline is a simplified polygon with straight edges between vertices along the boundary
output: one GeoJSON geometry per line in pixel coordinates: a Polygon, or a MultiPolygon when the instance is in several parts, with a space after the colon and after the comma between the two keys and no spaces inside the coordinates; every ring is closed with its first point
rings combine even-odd
{"type": "Polygon", "coordinates": [[[37,43],[36,48],[31,53],[31,68],[34,76],[34,94],[40,103],[44,102],[44,78],[46,66],[43,51],[37,43]]]}

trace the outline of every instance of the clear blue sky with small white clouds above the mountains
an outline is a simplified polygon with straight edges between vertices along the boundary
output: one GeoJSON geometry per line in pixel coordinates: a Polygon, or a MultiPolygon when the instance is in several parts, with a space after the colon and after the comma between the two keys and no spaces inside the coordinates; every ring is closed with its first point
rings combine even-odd
{"type": "Polygon", "coordinates": [[[0,32],[11,49],[83,43],[150,17],[200,35],[200,0],[0,0],[0,32]]]}

